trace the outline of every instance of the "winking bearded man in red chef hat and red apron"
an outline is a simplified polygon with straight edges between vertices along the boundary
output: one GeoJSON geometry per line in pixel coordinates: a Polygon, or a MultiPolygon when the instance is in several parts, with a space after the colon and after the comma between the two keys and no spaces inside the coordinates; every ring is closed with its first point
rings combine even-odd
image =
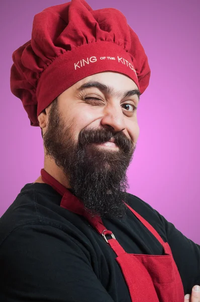
{"type": "Polygon", "coordinates": [[[126,193],[150,68],[125,17],[48,8],[13,60],[45,160],[0,220],[1,300],[197,301],[200,246],[126,193]]]}

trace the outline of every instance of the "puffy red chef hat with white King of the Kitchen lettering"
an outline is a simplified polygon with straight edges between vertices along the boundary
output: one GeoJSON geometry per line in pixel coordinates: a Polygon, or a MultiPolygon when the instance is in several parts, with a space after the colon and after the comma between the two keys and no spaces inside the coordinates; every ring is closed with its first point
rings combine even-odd
{"type": "Polygon", "coordinates": [[[31,126],[70,86],[94,73],[128,75],[142,94],[150,68],[138,36],[116,9],[93,11],[84,0],[35,15],[31,40],[13,53],[11,91],[22,100],[31,126]]]}

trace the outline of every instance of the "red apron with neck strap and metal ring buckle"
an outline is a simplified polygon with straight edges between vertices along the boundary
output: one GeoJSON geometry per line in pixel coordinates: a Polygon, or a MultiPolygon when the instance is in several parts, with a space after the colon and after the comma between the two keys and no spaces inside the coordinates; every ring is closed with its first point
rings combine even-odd
{"type": "Polygon", "coordinates": [[[67,190],[44,169],[42,180],[62,195],[60,206],[76,214],[84,216],[93,228],[103,236],[104,240],[115,251],[119,266],[127,283],[131,300],[134,302],[183,302],[183,285],[177,266],[167,242],[164,242],[154,228],[128,204],[128,208],[156,237],[164,249],[164,255],[128,254],[107,230],[101,217],[91,217],[83,203],[67,190]],[[107,239],[110,235],[112,239],[107,239]]]}

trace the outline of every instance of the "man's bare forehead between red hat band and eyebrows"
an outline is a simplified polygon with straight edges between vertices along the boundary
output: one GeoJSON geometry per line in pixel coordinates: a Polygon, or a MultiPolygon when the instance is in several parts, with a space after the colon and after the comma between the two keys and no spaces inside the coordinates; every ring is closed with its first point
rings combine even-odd
{"type": "Polygon", "coordinates": [[[73,89],[76,90],[81,85],[89,81],[95,81],[110,86],[116,92],[138,89],[135,82],[132,79],[130,79],[127,75],[119,72],[111,72],[111,71],[99,72],[89,75],[89,77],[86,77],[78,81],[76,84],[74,84],[73,89]]]}

